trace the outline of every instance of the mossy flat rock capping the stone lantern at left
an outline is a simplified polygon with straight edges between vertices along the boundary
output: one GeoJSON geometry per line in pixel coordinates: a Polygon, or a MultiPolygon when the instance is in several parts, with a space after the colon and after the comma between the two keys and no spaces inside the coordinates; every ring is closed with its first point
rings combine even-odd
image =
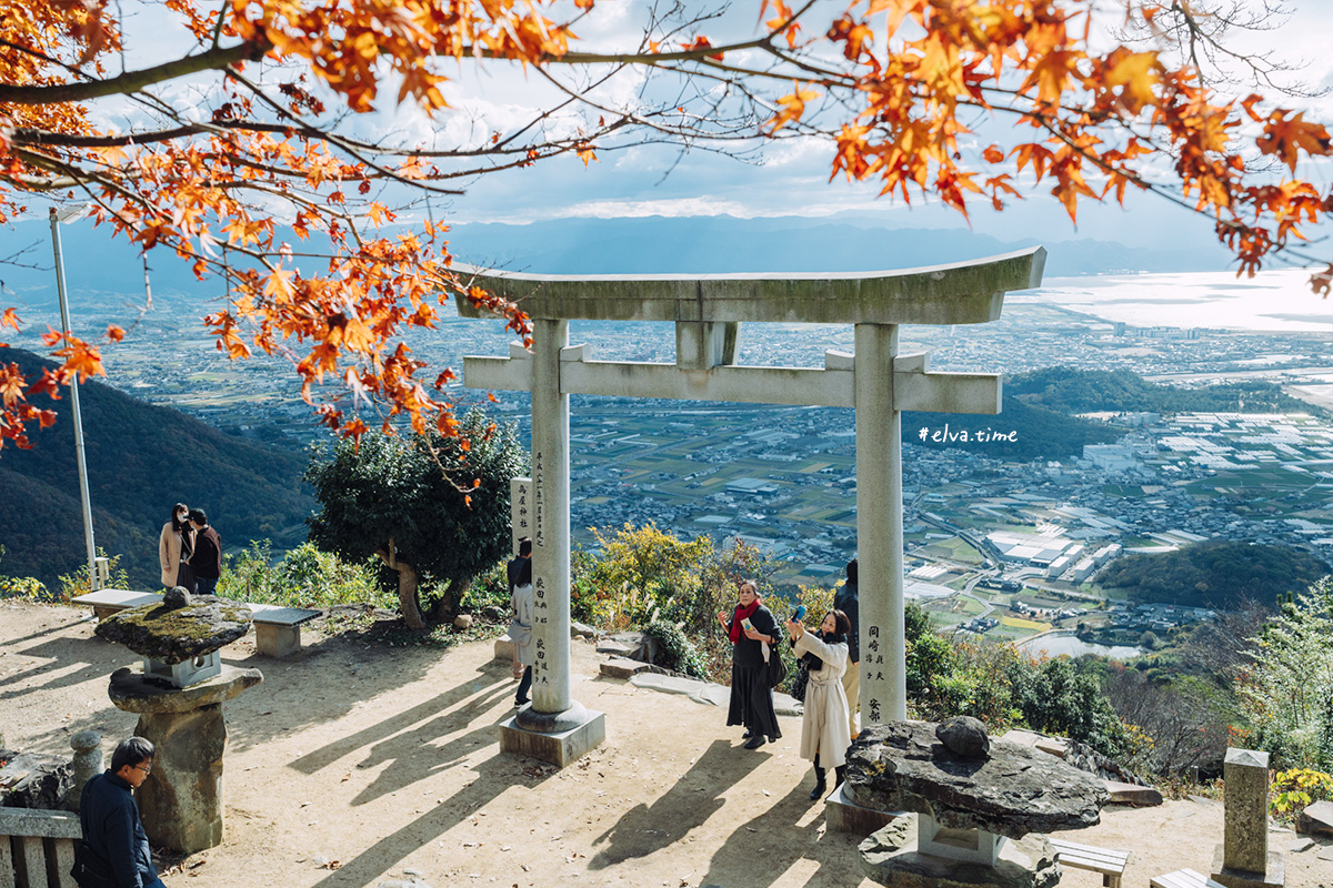
{"type": "Polygon", "coordinates": [[[249,626],[248,604],[195,595],[181,607],[143,604],[120,611],[97,623],[97,635],[140,656],[175,666],[231,644],[249,626]]]}

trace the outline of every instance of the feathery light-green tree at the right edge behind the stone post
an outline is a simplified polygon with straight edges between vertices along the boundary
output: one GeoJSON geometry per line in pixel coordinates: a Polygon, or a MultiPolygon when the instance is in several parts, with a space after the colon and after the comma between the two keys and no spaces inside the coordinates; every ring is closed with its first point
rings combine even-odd
{"type": "Polygon", "coordinates": [[[1333,770],[1333,578],[1284,604],[1246,654],[1237,692],[1248,743],[1274,767],[1333,770]]]}

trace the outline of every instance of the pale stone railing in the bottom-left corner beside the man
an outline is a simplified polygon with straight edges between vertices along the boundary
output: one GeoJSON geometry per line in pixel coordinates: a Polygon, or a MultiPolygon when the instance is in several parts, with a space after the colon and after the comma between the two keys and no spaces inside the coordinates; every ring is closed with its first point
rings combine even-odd
{"type": "Polygon", "coordinates": [[[0,885],[79,888],[69,871],[80,840],[76,813],[0,808],[0,885]]]}

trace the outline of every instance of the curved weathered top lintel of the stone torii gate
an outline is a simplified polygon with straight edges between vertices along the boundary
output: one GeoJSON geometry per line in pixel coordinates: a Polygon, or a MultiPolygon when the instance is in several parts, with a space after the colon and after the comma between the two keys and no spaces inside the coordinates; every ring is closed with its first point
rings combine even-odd
{"type": "MultiPolygon", "coordinates": [[[[1004,294],[1041,285],[1046,250],[896,272],[523,274],[456,265],[464,281],[532,318],[781,324],[984,324],[1004,294]]],[[[485,313],[459,297],[463,317],[485,313]]]]}

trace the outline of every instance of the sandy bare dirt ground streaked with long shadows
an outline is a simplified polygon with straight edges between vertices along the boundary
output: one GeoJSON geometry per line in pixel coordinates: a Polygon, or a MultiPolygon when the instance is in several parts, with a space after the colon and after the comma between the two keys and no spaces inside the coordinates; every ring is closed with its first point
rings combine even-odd
{"type": "MultiPolygon", "coordinates": [[[[7,746],[68,755],[69,736],[93,728],[109,756],[133,732],[136,716],[111,706],[107,684],[136,658],[92,627],[73,608],[0,604],[7,746]]],[[[500,752],[515,682],[489,643],[441,654],[303,640],[280,662],[256,656],[252,639],[223,651],[264,682],[225,704],[225,840],[168,885],[873,884],[857,868],[858,839],[826,832],[808,799],[794,718],[782,718],[778,743],[742,750],[724,711],[599,678],[592,646],[576,642],[573,694],[607,714],[607,743],[557,772],[500,752]]],[[[1222,805],[1112,807],[1098,827],[1062,835],[1132,849],[1125,888],[1148,888],[1170,869],[1209,871],[1222,805]]],[[[1294,835],[1270,840],[1285,849],[1294,835]]],[[[1333,888],[1333,860],[1318,859],[1330,845],[1289,853],[1286,884],[1333,888]]],[[[1061,884],[1100,877],[1066,869],[1061,884]]]]}

